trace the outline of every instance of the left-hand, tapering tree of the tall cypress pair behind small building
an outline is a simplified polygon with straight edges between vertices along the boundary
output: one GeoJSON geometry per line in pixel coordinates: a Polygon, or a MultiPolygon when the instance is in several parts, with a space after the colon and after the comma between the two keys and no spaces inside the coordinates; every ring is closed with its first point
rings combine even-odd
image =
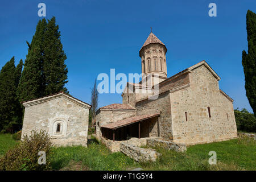
{"type": "Polygon", "coordinates": [[[46,25],[46,19],[39,20],[31,44],[27,42],[28,53],[17,92],[20,101],[31,100],[44,95],[42,44],[46,25]]]}

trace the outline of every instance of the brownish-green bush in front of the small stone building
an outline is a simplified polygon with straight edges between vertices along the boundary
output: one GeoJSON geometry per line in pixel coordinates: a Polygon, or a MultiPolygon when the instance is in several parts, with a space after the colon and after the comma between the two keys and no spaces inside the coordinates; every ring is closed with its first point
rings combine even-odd
{"type": "Polygon", "coordinates": [[[48,170],[51,155],[52,142],[48,133],[32,130],[30,136],[25,134],[18,145],[2,156],[0,170],[48,170]],[[46,164],[38,164],[39,151],[46,152],[46,164]]]}

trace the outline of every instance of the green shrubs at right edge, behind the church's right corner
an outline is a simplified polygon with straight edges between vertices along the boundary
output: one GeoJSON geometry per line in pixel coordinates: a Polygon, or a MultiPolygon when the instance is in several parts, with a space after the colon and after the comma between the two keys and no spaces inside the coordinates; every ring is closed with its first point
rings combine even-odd
{"type": "Polygon", "coordinates": [[[246,109],[242,109],[241,111],[235,109],[234,114],[236,117],[237,130],[256,132],[256,118],[254,114],[249,113],[246,109]]]}

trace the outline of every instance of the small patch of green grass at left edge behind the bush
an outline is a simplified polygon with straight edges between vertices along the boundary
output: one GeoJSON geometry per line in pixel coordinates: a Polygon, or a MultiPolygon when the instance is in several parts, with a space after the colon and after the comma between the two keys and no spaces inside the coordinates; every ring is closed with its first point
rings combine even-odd
{"type": "Polygon", "coordinates": [[[0,134],[0,156],[5,154],[7,150],[14,147],[17,143],[11,134],[0,134]]]}

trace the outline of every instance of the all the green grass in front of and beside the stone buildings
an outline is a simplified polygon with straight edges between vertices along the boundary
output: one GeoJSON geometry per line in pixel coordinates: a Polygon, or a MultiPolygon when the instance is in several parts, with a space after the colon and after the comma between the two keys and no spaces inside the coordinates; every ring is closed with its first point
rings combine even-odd
{"type": "MultiPolygon", "coordinates": [[[[0,154],[15,145],[11,135],[0,135],[0,154]]],[[[53,170],[127,170],[141,167],[145,170],[256,170],[256,140],[248,138],[225,142],[197,144],[184,154],[156,148],[162,156],[154,163],[137,163],[121,152],[111,153],[96,140],[88,147],[55,147],[51,166],[53,170]],[[209,151],[216,151],[217,164],[209,165],[209,151]]]]}

